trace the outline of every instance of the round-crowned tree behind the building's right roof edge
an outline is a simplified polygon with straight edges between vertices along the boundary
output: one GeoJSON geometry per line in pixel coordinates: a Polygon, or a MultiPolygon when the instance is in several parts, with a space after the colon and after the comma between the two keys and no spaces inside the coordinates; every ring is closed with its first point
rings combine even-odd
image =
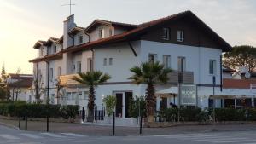
{"type": "Polygon", "coordinates": [[[230,52],[224,54],[224,66],[238,69],[247,66],[249,72],[256,67],[256,48],[248,45],[235,46],[230,52]]]}

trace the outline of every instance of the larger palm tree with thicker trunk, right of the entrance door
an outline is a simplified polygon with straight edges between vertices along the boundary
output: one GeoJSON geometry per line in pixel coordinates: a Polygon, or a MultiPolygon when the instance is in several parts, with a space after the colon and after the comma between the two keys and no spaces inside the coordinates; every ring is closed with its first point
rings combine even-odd
{"type": "Polygon", "coordinates": [[[154,121],[154,111],[155,111],[155,90],[154,85],[157,83],[166,84],[168,81],[167,74],[172,72],[172,69],[165,68],[157,62],[145,62],[141,66],[134,66],[130,69],[133,72],[131,79],[135,84],[148,84],[146,89],[146,107],[147,107],[147,117],[148,122],[154,121]]]}

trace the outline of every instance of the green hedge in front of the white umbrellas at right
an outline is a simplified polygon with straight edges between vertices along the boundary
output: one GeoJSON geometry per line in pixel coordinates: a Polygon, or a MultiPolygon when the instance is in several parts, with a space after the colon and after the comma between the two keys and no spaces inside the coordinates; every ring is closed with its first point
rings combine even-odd
{"type": "MultiPolygon", "coordinates": [[[[213,120],[213,110],[201,108],[166,108],[160,110],[158,115],[160,121],[177,122],[179,112],[180,121],[211,121],[213,120]]],[[[234,109],[216,108],[216,121],[256,121],[256,108],[234,109]]]]}

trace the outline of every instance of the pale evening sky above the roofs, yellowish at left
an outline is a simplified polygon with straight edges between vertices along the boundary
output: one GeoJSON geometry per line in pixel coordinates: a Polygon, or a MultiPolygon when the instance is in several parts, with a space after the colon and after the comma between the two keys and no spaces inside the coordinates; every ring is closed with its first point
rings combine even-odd
{"type": "MultiPolygon", "coordinates": [[[[230,45],[256,47],[255,0],[72,0],[78,26],[96,19],[140,24],[191,10],[230,45]]],[[[0,0],[0,66],[32,73],[38,40],[61,37],[69,0],[0,0]]]]}

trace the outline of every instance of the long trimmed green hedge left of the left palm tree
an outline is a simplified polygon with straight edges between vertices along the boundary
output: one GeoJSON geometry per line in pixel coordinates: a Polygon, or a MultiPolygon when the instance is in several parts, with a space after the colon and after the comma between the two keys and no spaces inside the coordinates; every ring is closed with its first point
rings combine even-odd
{"type": "Polygon", "coordinates": [[[75,118],[79,106],[26,104],[23,102],[0,103],[0,115],[31,118],[75,118]]]}

